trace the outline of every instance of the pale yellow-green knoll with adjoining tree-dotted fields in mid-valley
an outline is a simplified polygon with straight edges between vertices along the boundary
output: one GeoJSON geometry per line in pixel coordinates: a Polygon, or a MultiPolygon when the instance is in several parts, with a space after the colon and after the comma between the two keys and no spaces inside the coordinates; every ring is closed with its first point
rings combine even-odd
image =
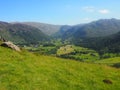
{"type": "Polygon", "coordinates": [[[99,59],[99,54],[91,49],[74,45],[62,46],[57,50],[57,55],[63,58],[92,62],[99,59]]]}

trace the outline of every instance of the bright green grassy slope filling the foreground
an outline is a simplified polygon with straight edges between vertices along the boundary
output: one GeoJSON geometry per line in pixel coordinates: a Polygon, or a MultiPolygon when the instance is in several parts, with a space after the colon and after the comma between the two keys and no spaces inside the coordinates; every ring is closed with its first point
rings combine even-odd
{"type": "Polygon", "coordinates": [[[120,90],[120,69],[0,47],[0,90],[120,90]]]}

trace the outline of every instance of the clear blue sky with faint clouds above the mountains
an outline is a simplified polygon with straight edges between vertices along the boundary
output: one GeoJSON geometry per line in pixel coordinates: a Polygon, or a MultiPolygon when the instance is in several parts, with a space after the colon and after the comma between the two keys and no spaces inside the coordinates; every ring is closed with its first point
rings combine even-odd
{"type": "Polygon", "coordinates": [[[120,19],[120,0],[0,0],[0,21],[75,25],[120,19]]]}

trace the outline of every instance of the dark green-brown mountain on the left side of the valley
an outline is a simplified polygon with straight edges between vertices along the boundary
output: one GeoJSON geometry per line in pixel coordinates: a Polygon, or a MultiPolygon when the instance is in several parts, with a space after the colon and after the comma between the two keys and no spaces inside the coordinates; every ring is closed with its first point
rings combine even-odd
{"type": "Polygon", "coordinates": [[[25,24],[0,22],[0,36],[18,44],[38,43],[48,39],[38,28],[25,24]]]}

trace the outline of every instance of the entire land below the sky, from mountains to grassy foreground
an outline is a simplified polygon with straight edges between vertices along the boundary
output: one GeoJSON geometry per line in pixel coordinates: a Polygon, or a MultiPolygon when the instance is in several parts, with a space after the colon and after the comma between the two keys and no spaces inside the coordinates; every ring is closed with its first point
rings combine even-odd
{"type": "Polygon", "coordinates": [[[120,20],[0,22],[0,90],[119,90],[119,83],[120,20]],[[2,46],[8,41],[21,51],[2,46]]]}

